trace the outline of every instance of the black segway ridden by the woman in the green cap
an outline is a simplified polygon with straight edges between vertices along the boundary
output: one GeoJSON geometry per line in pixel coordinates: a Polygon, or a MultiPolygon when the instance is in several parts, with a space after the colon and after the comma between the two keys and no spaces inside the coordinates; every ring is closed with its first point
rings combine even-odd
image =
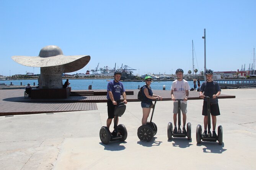
{"type": "Polygon", "coordinates": [[[148,141],[152,140],[153,136],[155,136],[157,134],[157,125],[154,122],[152,122],[156,103],[157,103],[157,100],[155,100],[155,103],[153,106],[153,111],[151,114],[150,122],[147,122],[146,125],[141,125],[138,128],[137,135],[138,135],[139,139],[143,142],[148,142],[148,141]]]}

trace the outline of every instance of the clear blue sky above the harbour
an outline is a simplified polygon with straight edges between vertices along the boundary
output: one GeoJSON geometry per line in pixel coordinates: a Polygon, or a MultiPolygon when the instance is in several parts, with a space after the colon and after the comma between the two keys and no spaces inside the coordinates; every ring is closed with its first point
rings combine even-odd
{"type": "Polygon", "coordinates": [[[194,69],[204,71],[204,29],[207,69],[248,69],[256,59],[255,0],[0,0],[0,75],[40,74],[11,56],[38,56],[47,45],[91,56],[70,74],[98,63],[135,75],[188,73],[192,52],[194,69]]]}

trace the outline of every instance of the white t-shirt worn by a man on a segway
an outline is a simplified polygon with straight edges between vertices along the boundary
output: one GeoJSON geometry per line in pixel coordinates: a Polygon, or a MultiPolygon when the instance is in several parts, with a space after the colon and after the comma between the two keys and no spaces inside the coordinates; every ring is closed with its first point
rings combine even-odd
{"type": "Polygon", "coordinates": [[[190,90],[189,84],[186,80],[181,81],[174,80],[171,84],[171,90],[173,90],[173,96],[175,99],[186,98],[186,90],[190,90]]]}

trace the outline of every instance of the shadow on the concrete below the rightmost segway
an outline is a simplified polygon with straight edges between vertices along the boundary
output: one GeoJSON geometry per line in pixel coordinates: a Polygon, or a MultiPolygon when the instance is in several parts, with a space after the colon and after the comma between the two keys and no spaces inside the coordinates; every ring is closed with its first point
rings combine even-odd
{"type": "Polygon", "coordinates": [[[216,142],[204,141],[204,142],[198,143],[196,145],[197,146],[205,146],[206,148],[203,148],[203,152],[205,152],[205,153],[222,154],[222,152],[227,150],[227,149],[223,149],[224,143],[222,143],[222,145],[220,145],[216,142]]]}

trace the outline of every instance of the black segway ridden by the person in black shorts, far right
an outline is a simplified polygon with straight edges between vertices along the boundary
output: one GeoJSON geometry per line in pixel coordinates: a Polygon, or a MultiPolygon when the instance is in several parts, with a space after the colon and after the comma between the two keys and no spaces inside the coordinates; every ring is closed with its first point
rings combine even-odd
{"type": "Polygon", "coordinates": [[[218,135],[216,137],[212,136],[210,133],[211,128],[211,116],[210,116],[210,97],[206,96],[207,98],[207,116],[208,116],[208,133],[206,136],[202,135],[202,126],[197,125],[196,127],[196,142],[201,143],[202,141],[210,141],[210,142],[216,142],[218,141],[218,144],[222,144],[222,126],[218,126],[218,135]]]}

